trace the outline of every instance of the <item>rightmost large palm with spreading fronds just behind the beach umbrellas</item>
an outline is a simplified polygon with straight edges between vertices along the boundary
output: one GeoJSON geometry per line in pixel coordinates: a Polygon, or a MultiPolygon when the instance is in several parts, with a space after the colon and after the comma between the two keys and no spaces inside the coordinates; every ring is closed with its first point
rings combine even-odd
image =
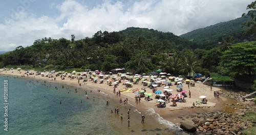
{"type": "Polygon", "coordinates": [[[180,72],[189,75],[191,72],[200,71],[201,70],[201,61],[197,59],[194,54],[187,54],[183,61],[181,62],[180,72]]]}

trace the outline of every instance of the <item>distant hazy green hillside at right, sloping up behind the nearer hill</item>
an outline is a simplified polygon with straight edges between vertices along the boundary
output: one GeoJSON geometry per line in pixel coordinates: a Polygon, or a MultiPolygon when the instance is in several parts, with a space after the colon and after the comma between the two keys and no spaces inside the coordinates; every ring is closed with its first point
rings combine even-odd
{"type": "Polygon", "coordinates": [[[240,17],[237,19],[220,22],[216,25],[193,30],[180,35],[180,37],[197,42],[201,46],[205,46],[206,44],[218,44],[218,42],[222,42],[222,37],[228,35],[232,35],[235,39],[243,40],[244,37],[242,33],[245,28],[242,28],[242,23],[248,20],[249,17],[240,17]]]}

